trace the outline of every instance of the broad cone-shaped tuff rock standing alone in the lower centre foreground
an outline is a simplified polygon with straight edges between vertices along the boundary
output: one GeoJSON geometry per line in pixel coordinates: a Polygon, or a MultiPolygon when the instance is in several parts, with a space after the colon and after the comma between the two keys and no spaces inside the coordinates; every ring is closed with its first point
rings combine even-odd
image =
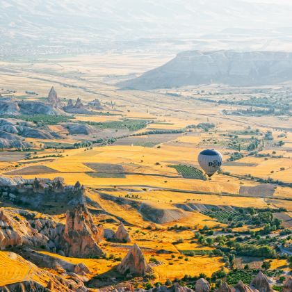
{"type": "Polygon", "coordinates": [[[134,243],[126,257],[117,266],[117,271],[122,274],[145,275],[145,273],[150,273],[152,268],[148,266],[143,252],[134,243]]]}

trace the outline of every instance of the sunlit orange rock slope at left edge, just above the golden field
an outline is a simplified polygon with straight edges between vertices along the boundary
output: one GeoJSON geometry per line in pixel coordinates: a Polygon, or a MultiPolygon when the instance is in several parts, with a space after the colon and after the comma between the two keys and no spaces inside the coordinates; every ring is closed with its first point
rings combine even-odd
{"type": "Polygon", "coordinates": [[[0,211],[0,248],[8,245],[45,245],[47,236],[38,233],[28,221],[19,218],[10,211],[0,211]]]}

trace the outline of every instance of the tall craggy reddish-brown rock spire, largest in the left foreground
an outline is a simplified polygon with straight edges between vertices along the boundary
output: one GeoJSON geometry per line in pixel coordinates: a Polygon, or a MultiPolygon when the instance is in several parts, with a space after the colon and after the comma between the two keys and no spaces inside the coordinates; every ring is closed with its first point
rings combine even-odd
{"type": "Polygon", "coordinates": [[[95,226],[88,209],[79,204],[67,211],[63,233],[63,251],[68,257],[89,257],[102,255],[98,243],[104,238],[104,227],[95,226]]]}

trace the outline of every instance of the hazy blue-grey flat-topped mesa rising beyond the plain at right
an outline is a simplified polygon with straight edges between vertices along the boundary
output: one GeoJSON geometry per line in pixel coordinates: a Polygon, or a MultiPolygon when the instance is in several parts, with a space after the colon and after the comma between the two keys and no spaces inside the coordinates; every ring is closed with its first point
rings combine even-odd
{"type": "Polygon", "coordinates": [[[260,86],[292,81],[292,52],[184,51],[165,65],[124,81],[122,88],[151,90],[211,83],[260,86]]]}

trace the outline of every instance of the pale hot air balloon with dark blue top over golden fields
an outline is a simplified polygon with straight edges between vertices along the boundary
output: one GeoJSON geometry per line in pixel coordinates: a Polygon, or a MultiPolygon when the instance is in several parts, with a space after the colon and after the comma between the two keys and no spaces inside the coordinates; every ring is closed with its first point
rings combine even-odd
{"type": "Polygon", "coordinates": [[[206,149],[200,152],[197,160],[206,175],[211,177],[222,165],[223,156],[217,150],[206,149]]]}

